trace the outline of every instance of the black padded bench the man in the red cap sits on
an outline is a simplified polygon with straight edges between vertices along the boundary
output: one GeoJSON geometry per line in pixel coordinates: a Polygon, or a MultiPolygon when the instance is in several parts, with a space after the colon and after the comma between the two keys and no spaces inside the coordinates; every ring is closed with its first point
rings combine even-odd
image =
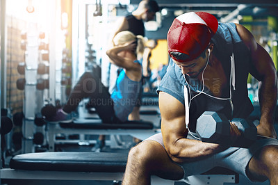
{"type": "MultiPolygon", "coordinates": [[[[10,168],[1,169],[1,181],[20,180],[99,180],[121,181],[127,161],[125,153],[43,152],[19,154],[10,160],[10,168]]],[[[182,180],[188,184],[220,185],[238,183],[238,174],[227,168],[213,168],[202,175],[182,180]]],[[[174,181],[152,177],[152,184],[174,184],[174,181]]]]}

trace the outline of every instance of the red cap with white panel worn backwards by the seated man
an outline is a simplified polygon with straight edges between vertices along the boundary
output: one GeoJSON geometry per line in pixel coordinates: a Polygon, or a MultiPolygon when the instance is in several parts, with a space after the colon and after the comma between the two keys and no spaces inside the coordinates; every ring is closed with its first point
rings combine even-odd
{"type": "Polygon", "coordinates": [[[209,13],[184,13],[176,17],[167,33],[168,53],[176,51],[186,54],[186,60],[178,60],[170,54],[170,57],[180,63],[192,61],[202,54],[211,38],[218,29],[218,20],[209,13]]]}

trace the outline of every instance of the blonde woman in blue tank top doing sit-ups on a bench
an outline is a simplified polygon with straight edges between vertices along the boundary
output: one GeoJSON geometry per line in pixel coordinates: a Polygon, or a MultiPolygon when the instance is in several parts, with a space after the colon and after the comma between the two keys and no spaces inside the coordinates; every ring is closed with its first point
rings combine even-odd
{"type": "Polygon", "coordinates": [[[90,98],[99,118],[105,123],[125,122],[138,102],[142,90],[142,66],[137,60],[144,51],[144,40],[130,31],[117,33],[115,46],[106,51],[111,63],[122,67],[113,93],[101,83],[101,79],[92,72],[85,72],[74,86],[67,104],[59,109],[51,122],[71,122],[71,112],[75,111],[83,98],[90,98]]]}

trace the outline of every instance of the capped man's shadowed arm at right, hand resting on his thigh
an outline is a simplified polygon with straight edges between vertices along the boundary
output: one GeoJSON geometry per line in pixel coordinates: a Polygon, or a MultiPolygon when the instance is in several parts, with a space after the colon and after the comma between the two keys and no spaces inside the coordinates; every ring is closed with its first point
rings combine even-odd
{"type": "Polygon", "coordinates": [[[275,65],[269,54],[261,45],[256,43],[253,35],[244,26],[236,24],[240,38],[250,49],[252,64],[256,72],[250,72],[259,83],[259,102],[261,119],[257,127],[258,134],[276,138],[273,127],[275,106],[277,104],[277,75],[275,65]]]}

